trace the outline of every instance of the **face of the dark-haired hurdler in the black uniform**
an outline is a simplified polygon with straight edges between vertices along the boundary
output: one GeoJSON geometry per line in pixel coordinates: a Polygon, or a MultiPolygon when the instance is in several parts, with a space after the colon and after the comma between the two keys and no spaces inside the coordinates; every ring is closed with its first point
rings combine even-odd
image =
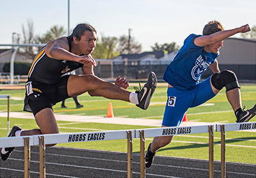
{"type": "Polygon", "coordinates": [[[91,54],[96,47],[96,33],[92,31],[85,31],[81,40],[78,42],[78,47],[84,55],[91,54]]]}

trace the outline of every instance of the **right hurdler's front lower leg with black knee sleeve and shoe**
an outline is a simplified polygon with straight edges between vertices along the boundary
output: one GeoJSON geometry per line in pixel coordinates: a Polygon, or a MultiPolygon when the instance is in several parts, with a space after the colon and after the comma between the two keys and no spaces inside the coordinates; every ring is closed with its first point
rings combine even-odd
{"type": "Polygon", "coordinates": [[[236,122],[248,122],[256,115],[256,105],[250,110],[242,110],[240,87],[233,71],[224,70],[221,73],[214,73],[211,77],[211,84],[215,94],[226,87],[227,99],[236,114],[236,122]]]}

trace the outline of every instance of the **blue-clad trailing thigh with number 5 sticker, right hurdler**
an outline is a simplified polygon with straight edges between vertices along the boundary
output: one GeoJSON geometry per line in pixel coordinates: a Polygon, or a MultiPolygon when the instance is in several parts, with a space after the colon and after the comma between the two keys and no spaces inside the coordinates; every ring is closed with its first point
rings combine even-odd
{"type": "Polygon", "coordinates": [[[179,126],[193,102],[193,97],[191,97],[190,91],[180,91],[173,87],[168,87],[167,96],[162,125],[179,126]]]}

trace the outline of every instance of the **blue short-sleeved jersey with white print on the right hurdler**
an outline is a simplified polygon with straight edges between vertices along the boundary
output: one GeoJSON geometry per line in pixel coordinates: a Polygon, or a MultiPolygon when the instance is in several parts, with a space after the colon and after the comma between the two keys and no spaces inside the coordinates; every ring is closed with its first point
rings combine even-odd
{"type": "Polygon", "coordinates": [[[164,81],[177,89],[194,89],[199,84],[202,73],[219,56],[219,52],[218,54],[205,52],[204,47],[194,44],[193,39],[200,36],[190,34],[164,72],[164,81]]]}

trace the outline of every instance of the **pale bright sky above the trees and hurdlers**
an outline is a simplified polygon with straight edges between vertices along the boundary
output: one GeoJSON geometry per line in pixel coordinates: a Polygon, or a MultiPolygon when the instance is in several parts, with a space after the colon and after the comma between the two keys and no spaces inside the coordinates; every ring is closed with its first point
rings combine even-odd
{"type": "MultiPolygon", "coordinates": [[[[42,36],[52,26],[68,28],[68,0],[0,0],[0,44],[12,44],[12,34],[22,35],[22,26],[33,22],[42,36]]],[[[256,26],[255,0],[70,0],[70,29],[87,22],[102,36],[131,36],[142,52],[155,43],[181,46],[191,33],[202,34],[211,20],[225,29],[256,26]]],[[[236,34],[239,38],[240,35],[236,34]]],[[[3,48],[3,47],[0,47],[3,48]]]]}

